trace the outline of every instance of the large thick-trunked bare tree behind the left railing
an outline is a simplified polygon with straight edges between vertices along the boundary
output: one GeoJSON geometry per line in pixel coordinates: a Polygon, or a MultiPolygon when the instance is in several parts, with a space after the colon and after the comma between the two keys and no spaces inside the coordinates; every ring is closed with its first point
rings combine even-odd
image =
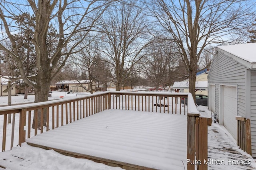
{"type": "MultiPolygon", "coordinates": [[[[76,53],[75,48],[87,36],[111,2],[110,0],[22,0],[14,3],[12,0],[5,0],[0,3],[1,29],[4,30],[0,39],[0,50],[6,51],[15,60],[22,79],[34,88],[35,102],[48,100],[51,80],[60,72],[68,57],[76,53]],[[13,36],[21,30],[13,21],[22,23],[30,20],[30,17],[20,20],[20,15],[24,12],[28,14],[32,12],[35,16],[34,30],[32,30],[34,35],[31,41],[36,51],[37,72],[30,77],[26,76],[22,64],[24,56],[19,55],[13,36]],[[47,35],[51,23],[55,26],[58,37],[56,37],[57,45],[49,51],[47,35]],[[78,34],[81,31],[84,32],[82,36],[78,34]],[[6,39],[12,43],[11,49],[4,46],[3,41],[6,39]]],[[[46,125],[46,114],[44,118],[46,125]]],[[[40,127],[39,113],[38,127],[40,127]]]]}

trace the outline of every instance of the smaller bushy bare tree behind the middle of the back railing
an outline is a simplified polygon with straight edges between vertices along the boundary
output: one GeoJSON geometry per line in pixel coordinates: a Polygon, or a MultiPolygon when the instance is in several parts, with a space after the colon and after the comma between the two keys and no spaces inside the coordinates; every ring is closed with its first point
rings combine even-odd
{"type": "Polygon", "coordinates": [[[148,54],[142,59],[143,73],[154,83],[156,90],[166,81],[169,71],[176,65],[176,48],[172,45],[174,43],[170,41],[155,39],[154,43],[146,48],[148,54]]]}

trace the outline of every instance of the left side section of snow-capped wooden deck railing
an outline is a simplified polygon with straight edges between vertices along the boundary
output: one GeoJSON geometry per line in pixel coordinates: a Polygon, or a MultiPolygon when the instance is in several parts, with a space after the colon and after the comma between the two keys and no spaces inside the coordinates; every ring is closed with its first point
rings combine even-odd
{"type": "MultiPolygon", "coordinates": [[[[103,92],[88,95],[86,97],[0,107],[0,116],[4,116],[2,151],[6,149],[10,150],[16,145],[21,145],[22,142],[25,142],[25,139],[37,135],[38,133],[43,133],[49,129],[54,129],[64,124],[71,123],[72,121],[106,110],[110,105],[110,101],[109,92],[103,92]],[[46,127],[43,126],[44,110],[46,110],[46,127]],[[39,113],[41,126],[32,129],[34,114],[39,113]],[[12,115],[12,127],[10,131],[7,131],[8,114],[12,115]],[[18,136],[15,136],[15,131],[19,132],[18,136]],[[10,139],[6,139],[7,133],[9,133],[8,136],[11,136],[10,139]],[[6,148],[6,144],[8,144],[8,148],[6,148]]],[[[37,122],[37,116],[35,116],[35,127],[38,127],[37,122]]]]}

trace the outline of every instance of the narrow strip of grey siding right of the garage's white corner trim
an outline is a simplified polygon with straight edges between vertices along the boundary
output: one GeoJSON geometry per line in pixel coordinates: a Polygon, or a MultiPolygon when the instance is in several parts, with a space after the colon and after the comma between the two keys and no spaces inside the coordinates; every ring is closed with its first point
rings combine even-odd
{"type": "Polygon", "coordinates": [[[256,157],[256,70],[251,70],[251,136],[252,156],[256,157]]]}

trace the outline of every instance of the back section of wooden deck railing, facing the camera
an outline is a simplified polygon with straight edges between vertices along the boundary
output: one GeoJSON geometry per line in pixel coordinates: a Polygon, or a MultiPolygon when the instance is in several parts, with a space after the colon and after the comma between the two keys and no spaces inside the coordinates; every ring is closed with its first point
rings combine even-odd
{"type": "Polygon", "coordinates": [[[172,113],[186,115],[187,110],[182,98],[187,93],[163,92],[111,92],[113,109],[151,111],[156,113],[172,113]]]}

